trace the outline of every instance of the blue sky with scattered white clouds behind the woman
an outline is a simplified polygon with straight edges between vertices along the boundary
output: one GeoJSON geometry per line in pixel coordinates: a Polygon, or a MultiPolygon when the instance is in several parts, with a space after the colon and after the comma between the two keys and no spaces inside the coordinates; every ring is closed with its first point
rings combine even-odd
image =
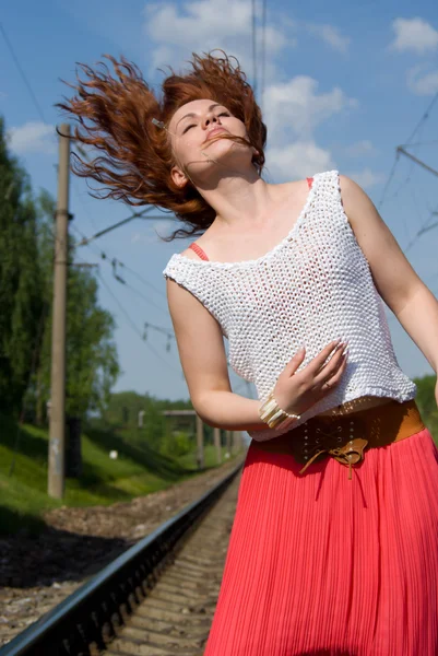
{"type": "MultiPolygon", "coordinates": [[[[265,179],[280,183],[338,168],[360,184],[429,289],[438,294],[437,177],[401,156],[390,178],[395,148],[407,142],[438,93],[438,4],[436,0],[289,3],[268,0],[262,89],[261,2],[257,16],[257,72],[251,51],[251,0],[141,2],[130,0],[14,0],[3,3],[0,22],[29,82],[40,110],[23,82],[0,34],[0,113],[10,148],[31,174],[35,190],[56,196],[57,143],[61,117],[54,104],[74,80],[75,62],[93,65],[103,54],[125,55],[159,86],[166,63],[184,67],[192,51],[216,47],[236,55],[250,82],[257,80],[268,125],[265,179]],[[387,181],[389,180],[387,186],[387,181]]],[[[438,169],[438,102],[422,121],[409,151],[438,169]]],[[[73,179],[72,234],[92,235],[125,219],[130,208],[94,200],[73,179]]],[[[154,215],[158,214],[154,211],[154,215]]],[[[117,389],[157,397],[187,398],[177,349],[159,331],[171,332],[162,271],[188,242],[161,242],[173,222],[132,221],[82,247],[79,257],[99,262],[105,285],[99,298],[117,320],[116,340],[123,370],[117,389]],[[107,259],[102,259],[102,253],[107,259]],[[122,285],[113,276],[116,257],[122,285]],[[133,271],[133,272],[132,272],[133,271]],[[120,304],[123,309],[120,309],[120,304]],[[128,318],[127,318],[128,317],[128,318]]],[[[388,313],[395,353],[413,377],[433,372],[396,319],[388,313]]],[[[249,394],[232,375],[233,387],[249,394]]]]}

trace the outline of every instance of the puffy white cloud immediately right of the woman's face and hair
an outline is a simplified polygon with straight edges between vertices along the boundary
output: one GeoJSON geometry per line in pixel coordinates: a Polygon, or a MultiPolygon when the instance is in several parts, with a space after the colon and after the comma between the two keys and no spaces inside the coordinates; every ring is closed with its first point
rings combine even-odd
{"type": "Polygon", "coordinates": [[[324,120],[344,109],[357,107],[357,101],[334,87],[318,94],[318,82],[306,75],[271,84],[264,94],[264,117],[270,142],[282,142],[288,132],[309,140],[324,120]]]}

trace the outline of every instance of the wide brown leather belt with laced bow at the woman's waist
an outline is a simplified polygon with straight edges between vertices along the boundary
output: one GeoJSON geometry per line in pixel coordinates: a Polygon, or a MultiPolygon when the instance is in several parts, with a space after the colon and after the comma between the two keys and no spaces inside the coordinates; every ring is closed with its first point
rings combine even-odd
{"type": "Polygon", "coordinates": [[[304,465],[299,473],[320,459],[332,456],[341,465],[352,467],[364,459],[365,448],[388,446],[423,431],[415,400],[388,403],[339,417],[317,415],[280,437],[265,442],[252,440],[251,446],[269,453],[291,454],[304,465]]]}

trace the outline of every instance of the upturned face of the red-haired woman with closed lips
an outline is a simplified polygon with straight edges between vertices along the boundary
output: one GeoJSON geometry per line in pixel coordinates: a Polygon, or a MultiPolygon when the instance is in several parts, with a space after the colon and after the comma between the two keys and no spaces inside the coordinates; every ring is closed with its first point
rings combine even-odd
{"type": "Polygon", "coordinates": [[[214,139],[226,133],[248,139],[248,134],[241,120],[211,99],[182,105],[171,117],[168,130],[177,162],[171,175],[181,187],[189,176],[194,183],[211,177],[212,171],[217,171],[221,164],[250,164],[257,152],[228,139],[214,139]]]}

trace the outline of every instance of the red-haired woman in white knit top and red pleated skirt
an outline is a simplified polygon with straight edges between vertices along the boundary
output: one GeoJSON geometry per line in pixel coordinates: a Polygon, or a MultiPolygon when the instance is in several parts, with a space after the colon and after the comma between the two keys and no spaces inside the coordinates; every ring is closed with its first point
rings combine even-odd
{"type": "Polygon", "coordinates": [[[164,271],[181,364],[203,421],[252,437],[205,654],[436,656],[437,448],[382,304],[437,371],[436,298],[353,180],[262,179],[265,127],[225,54],[161,101],[111,61],[60,105],[104,152],[75,171],[201,235],[164,271]],[[232,391],[224,337],[258,400],[232,391]]]}

